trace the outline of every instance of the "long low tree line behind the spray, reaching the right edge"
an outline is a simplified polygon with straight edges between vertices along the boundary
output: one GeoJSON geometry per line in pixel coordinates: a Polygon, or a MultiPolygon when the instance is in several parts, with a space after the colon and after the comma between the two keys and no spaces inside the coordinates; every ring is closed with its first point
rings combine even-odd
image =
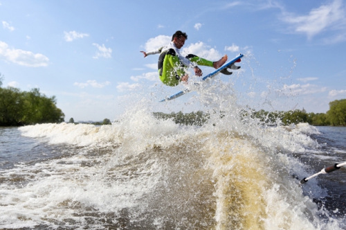
{"type": "MultiPolygon", "coordinates": [[[[158,119],[172,119],[175,123],[182,125],[203,125],[210,117],[210,114],[204,112],[192,112],[183,114],[183,112],[164,114],[162,112],[154,112],[154,116],[158,119]]],[[[220,112],[220,118],[226,114],[220,112]]],[[[267,112],[264,109],[255,111],[253,109],[244,109],[239,116],[242,119],[257,119],[259,123],[267,125],[290,125],[298,123],[309,123],[316,126],[346,126],[346,99],[334,100],[329,103],[327,113],[307,113],[304,109],[291,111],[274,111],[267,112]]]]}

